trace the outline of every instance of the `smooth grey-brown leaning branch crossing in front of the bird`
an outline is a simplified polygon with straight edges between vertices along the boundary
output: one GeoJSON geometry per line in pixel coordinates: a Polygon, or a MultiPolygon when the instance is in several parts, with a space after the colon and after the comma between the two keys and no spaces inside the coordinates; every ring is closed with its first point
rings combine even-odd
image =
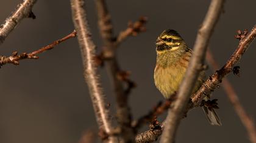
{"type": "Polygon", "coordinates": [[[162,143],[174,142],[177,128],[185,108],[187,107],[188,100],[190,99],[193,85],[202,70],[207,45],[210,41],[210,36],[213,33],[213,28],[221,15],[223,4],[224,0],[212,0],[204,22],[197,33],[196,42],[194,44],[194,53],[191,57],[190,64],[188,65],[188,70],[179,87],[177,99],[168,111],[165,128],[160,140],[162,143]]]}

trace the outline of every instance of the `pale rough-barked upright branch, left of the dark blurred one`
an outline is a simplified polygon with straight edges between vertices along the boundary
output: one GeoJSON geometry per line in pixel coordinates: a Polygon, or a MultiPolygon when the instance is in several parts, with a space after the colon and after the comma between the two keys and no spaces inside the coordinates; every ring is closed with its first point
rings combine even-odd
{"type": "MultiPolygon", "coordinates": [[[[77,39],[80,45],[82,62],[84,65],[84,78],[90,91],[91,100],[93,102],[99,128],[108,134],[112,131],[113,127],[110,121],[108,110],[106,108],[107,104],[105,104],[103,91],[99,82],[99,75],[96,71],[96,64],[93,60],[95,56],[95,45],[91,39],[91,33],[87,22],[87,13],[83,7],[84,1],[71,0],[74,27],[77,31],[77,39]]],[[[115,137],[110,136],[107,142],[118,141],[115,137]]]]}

